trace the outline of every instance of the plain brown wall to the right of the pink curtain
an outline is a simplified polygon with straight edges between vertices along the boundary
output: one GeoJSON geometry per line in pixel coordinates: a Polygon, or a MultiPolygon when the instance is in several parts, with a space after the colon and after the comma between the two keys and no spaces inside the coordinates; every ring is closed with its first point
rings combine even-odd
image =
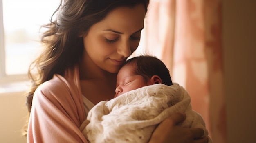
{"type": "Polygon", "coordinates": [[[256,0],[223,0],[227,143],[256,143],[256,0]]]}

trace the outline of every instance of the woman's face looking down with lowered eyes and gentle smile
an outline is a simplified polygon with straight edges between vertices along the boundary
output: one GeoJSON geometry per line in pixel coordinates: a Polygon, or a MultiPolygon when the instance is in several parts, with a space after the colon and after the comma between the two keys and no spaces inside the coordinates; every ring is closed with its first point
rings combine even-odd
{"type": "Polygon", "coordinates": [[[111,11],[105,19],[94,24],[83,35],[83,56],[90,58],[87,61],[92,61],[99,68],[117,73],[139,45],[145,14],[142,4],[119,7],[111,11]]]}

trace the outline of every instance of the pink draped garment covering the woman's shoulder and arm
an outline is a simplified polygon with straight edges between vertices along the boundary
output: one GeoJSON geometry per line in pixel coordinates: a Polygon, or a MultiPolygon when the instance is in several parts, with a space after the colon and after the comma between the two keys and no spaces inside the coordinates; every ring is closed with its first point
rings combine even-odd
{"type": "Polygon", "coordinates": [[[78,67],[41,84],[33,97],[28,143],[87,143],[79,127],[85,120],[78,67]]]}

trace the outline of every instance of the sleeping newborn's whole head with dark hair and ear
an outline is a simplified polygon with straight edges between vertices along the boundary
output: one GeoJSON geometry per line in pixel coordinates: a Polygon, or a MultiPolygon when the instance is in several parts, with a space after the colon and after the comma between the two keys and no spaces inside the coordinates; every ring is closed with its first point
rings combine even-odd
{"type": "Polygon", "coordinates": [[[139,56],[127,60],[117,74],[116,95],[152,84],[171,86],[172,80],[165,64],[153,56],[139,56]]]}

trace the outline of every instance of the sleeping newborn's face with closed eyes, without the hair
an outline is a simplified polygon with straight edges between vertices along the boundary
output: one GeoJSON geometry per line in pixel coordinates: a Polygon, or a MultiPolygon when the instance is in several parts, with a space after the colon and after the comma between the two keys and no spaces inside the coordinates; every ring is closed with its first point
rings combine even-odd
{"type": "Polygon", "coordinates": [[[141,75],[135,75],[134,67],[130,64],[123,66],[117,74],[117,88],[115,97],[128,91],[150,85],[146,83],[141,75]]]}

